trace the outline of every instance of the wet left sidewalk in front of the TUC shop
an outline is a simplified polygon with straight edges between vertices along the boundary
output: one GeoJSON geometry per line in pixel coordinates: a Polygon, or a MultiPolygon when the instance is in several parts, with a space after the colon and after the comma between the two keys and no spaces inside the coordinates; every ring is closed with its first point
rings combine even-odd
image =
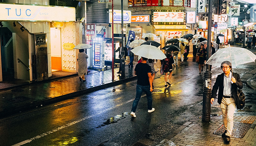
{"type": "Polygon", "coordinates": [[[69,76],[1,90],[0,117],[137,79],[134,75],[135,65],[133,68],[125,67],[125,79],[117,74],[119,67],[114,69],[113,82],[112,69],[109,69],[86,75],[86,82],[80,82],[78,76],[69,76]]]}

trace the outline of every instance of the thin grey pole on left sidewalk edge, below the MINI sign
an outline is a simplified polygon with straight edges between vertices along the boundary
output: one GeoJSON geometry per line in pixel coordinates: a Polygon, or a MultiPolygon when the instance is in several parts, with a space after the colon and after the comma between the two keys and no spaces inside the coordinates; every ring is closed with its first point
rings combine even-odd
{"type": "Polygon", "coordinates": [[[125,67],[125,62],[124,62],[124,6],[123,6],[123,0],[121,0],[121,32],[122,32],[122,48],[121,48],[121,79],[125,78],[125,73],[124,73],[124,67],[125,67]]]}

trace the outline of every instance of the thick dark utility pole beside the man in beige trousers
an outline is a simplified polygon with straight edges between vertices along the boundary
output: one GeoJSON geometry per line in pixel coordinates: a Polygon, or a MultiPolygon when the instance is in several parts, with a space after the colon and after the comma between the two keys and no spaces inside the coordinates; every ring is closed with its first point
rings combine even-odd
{"type": "MultiPolygon", "coordinates": [[[[208,34],[207,34],[207,58],[210,58],[210,46],[211,46],[211,29],[212,29],[212,11],[213,1],[208,0],[208,34]]],[[[202,120],[204,122],[210,121],[210,99],[211,99],[211,84],[212,84],[212,72],[210,71],[210,65],[206,64],[206,72],[204,73],[204,89],[203,89],[203,115],[202,120]]]]}

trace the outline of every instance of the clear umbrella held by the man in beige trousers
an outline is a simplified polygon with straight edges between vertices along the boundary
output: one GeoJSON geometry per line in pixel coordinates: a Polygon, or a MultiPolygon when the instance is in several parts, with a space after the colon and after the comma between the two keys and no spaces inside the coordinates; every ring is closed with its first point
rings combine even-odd
{"type": "Polygon", "coordinates": [[[236,67],[240,64],[254,62],[255,59],[256,55],[245,48],[227,47],[219,49],[215,54],[210,56],[206,64],[217,67],[220,66],[223,61],[230,61],[232,63],[232,67],[236,67]]]}

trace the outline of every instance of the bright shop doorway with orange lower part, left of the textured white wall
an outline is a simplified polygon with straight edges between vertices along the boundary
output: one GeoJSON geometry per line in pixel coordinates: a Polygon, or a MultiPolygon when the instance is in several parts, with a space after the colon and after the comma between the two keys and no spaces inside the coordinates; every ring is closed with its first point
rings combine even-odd
{"type": "Polygon", "coordinates": [[[50,34],[52,72],[61,71],[61,29],[51,28],[50,34]]]}

